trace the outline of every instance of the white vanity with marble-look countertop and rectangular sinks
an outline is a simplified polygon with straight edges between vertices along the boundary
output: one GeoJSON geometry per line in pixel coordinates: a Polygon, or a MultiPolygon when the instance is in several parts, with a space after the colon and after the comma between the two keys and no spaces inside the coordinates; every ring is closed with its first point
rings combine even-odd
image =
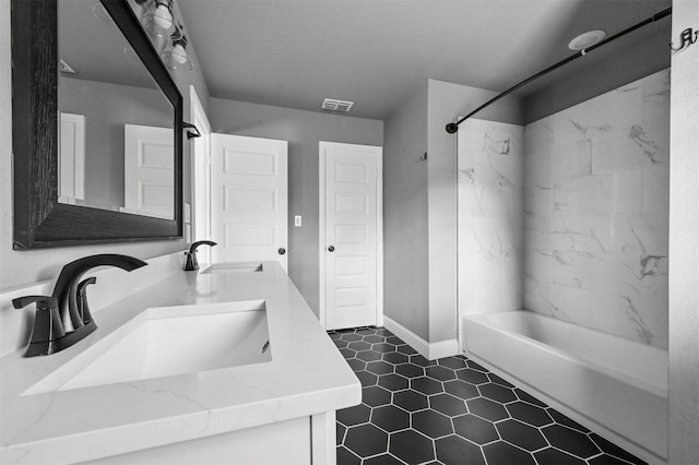
{"type": "Polygon", "coordinates": [[[334,464],[335,410],[362,388],[283,269],[125,289],[155,272],[103,285],[111,298],[95,286],[98,327],[79,344],[0,359],[0,463],[334,464]]]}

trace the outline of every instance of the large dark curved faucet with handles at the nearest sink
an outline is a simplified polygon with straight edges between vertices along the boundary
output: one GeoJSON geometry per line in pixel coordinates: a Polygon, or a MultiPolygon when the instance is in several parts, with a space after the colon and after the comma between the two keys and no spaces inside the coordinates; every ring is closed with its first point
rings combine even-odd
{"type": "Polygon", "coordinates": [[[50,297],[27,296],[13,299],[12,305],[16,309],[36,302],[32,337],[24,356],[60,351],[97,329],[85,294],[85,287],[96,283],[96,278],[90,277],[81,282],[85,273],[96,266],[117,266],[130,272],[146,264],[133,257],[115,253],[85,257],[63,266],[50,297]]]}

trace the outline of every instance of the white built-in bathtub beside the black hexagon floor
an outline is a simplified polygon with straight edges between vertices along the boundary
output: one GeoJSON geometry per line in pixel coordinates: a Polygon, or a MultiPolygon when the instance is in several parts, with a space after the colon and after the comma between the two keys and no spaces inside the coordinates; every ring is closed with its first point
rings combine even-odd
{"type": "Polygon", "coordinates": [[[462,323],[467,357],[639,458],[666,463],[666,350],[526,310],[462,323]]]}

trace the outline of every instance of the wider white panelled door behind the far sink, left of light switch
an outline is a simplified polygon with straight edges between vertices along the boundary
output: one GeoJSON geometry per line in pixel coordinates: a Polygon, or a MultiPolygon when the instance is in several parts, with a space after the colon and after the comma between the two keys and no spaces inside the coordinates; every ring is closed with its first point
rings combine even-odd
{"type": "Polygon", "coordinates": [[[287,142],[211,134],[214,263],[279,261],[287,270],[287,142]]]}

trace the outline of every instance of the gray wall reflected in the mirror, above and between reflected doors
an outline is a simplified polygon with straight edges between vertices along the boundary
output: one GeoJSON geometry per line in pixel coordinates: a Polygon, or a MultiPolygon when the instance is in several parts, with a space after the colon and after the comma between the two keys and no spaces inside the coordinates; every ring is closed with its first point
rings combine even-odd
{"type": "Polygon", "coordinates": [[[123,126],[173,127],[173,106],[155,88],[61,76],[58,108],[85,117],[85,200],[123,206],[123,126]]]}

